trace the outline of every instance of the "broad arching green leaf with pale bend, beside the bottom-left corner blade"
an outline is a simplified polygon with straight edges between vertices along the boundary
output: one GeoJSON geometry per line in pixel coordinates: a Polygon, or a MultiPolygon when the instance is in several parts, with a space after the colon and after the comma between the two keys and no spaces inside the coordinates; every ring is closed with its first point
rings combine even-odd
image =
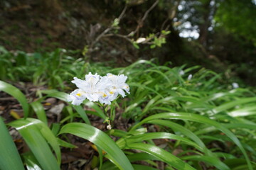
{"type": "Polygon", "coordinates": [[[28,118],[26,120],[15,120],[9,123],[9,125],[18,130],[42,169],[60,169],[60,148],[58,147],[58,141],[45,123],[40,120],[28,118]],[[59,164],[53,156],[48,142],[55,150],[59,164]]]}

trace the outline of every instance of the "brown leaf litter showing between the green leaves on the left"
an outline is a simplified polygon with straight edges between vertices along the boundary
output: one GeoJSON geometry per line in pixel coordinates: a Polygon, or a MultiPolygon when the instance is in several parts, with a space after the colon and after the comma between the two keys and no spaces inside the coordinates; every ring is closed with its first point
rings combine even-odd
{"type": "MultiPolygon", "coordinates": [[[[17,83],[14,84],[14,86],[16,86],[18,89],[21,89],[23,94],[26,95],[28,101],[31,102],[36,100],[36,91],[38,89],[47,89],[46,86],[33,86],[31,83],[17,83]]],[[[18,103],[18,101],[16,100],[16,98],[9,96],[9,94],[4,93],[3,91],[0,91],[0,96],[0,116],[4,118],[5,123],[10,123],[11,121],[14,121],[18,118],[23,118],[23,109],[21,107],[21,104],[18,103]]],[[[67,105],[67,103],[65,103],[64,101],[60,101],[56,98],[46,98],[46,100],[43,101],[42,104],[48,119],[48,126],[51,127],[53,123],[60,123],[60,120],[63,119],[63,115],[61,115],[60,113],[63,111],[63,108],[67,105]]],[[[86,106],[84,109],[85,111],[93,110],[92,108],[88,108],[86,106]]],[[[131,126],[131,123],[129,123],[129,120],[125,120],[124,118],[122,118],[121,113],[122,108],[117,108],[116,118],[114,120],[114,128],[127,131],[127,129],[131,126]]],[[[36,115],[34,114],[30,117],[36,118],[36,115]]],[[[102,118],[90,114],[88,115],[88,118],[92,123],[92,126],[94,126],[95,128],[98,128],[102,131],[107,130],[107,124],[103,123],[104,120],[102,120],[102,118]]],[[[75,120],[73,120],[73,122],[80,121],[81,119],[78,118],[75,118],[75,120]]],[[[26,142],[23,140],[23,138],[15,128],[9,128],[9,133],[13,137],[18,152],[20,154],[29,151],[26,142]]],[[[70,142],[72,145],[75,145],[76,148],[69,149],[63,147],[61,149],[61,169],[90,170],[93,166],[95,166],[93,165],[95,164],[95,162],[92,161],[92,159],[95,159],[95,156],[98,156],[95,145],[80,137],[76,137],[75,135],[66,135],[65,140],[70,142]]]]}

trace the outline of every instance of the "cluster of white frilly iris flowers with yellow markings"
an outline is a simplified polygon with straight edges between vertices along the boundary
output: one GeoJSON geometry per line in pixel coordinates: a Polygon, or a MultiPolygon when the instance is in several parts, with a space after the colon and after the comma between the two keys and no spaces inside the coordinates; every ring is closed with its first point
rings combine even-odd
{"type": "Polygon", "coordinates": [[[68,101],[73,105],[80,105],[86,98],[89,101],[105,103],[110,105],[111,101],[117,98],[120,94],[122,97],[126,96],[126,91],[129,94],[129,86],[125,83],[127,77],[124,74],[114,75],[108,73],[105,77],[92,74],[91,72],[85,75],[85,80],[74,77],[71,81],[78,87],[68,96],[68,101]]]}

